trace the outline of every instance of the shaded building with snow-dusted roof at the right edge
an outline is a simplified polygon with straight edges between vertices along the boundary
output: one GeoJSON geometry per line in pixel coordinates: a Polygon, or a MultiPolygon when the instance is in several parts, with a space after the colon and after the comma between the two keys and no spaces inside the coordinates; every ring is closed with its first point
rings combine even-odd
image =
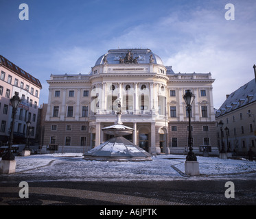
{"type": "Polygon", "coordinates": [[[247,155],[251,148],[256,153],[256,83],[248,81],[229,95],[216,111],[217,123],[224,123],[222,132],[218,127],[218,145],[238,155],[247,155]]]}

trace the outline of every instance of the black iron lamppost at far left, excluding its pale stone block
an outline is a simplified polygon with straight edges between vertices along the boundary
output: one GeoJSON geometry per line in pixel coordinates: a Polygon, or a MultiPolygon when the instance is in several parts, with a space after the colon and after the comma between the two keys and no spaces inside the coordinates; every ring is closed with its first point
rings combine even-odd
{"type": "Polygon", "coordinates": [[[2,157],[2,160],[14,160],[15,157],[12,154],[12,144],[13,144],[13,130],[14,130],[14,117],[17,112],[17,108],[19,107],[21,103],[21,99],[19,98],[19,92],[15,92],[15,95],[12,96],[12,99],[10,99],[10,103],[12,105],[12,127],[11,127],[11,133],[10,133],[10,140],[8,143],[8,151],[5,153],[2,157]]]}

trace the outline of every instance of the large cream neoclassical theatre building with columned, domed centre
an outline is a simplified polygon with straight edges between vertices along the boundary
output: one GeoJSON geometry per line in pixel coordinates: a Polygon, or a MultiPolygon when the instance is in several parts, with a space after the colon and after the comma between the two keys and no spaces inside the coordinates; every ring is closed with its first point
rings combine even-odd
{"type": "Polygon", "coordinates": [[[152,154],[184,153],[188,115],[183,95],[196,95],[192,105],[194,151],[217,148],[211,73],[174,73],[150,49],[111,49],[89,74],[51,75],[44,122],[43,153],[85,152],[108,140],[102,128],[116,120],[135,129],[128,140],[152,154]]]}

